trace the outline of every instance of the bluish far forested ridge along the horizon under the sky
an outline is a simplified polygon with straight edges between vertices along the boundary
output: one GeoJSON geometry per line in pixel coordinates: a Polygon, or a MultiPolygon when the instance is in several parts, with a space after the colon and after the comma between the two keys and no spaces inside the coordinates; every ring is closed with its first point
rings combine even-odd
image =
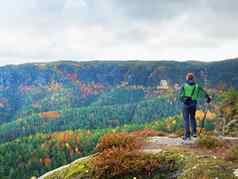
{"type": "MultiPolygon", "coordinates": [[[[167,80],[173,86],[182,83],[192,71],[201,84],[210,87],[238,87],[238,59],[221,62],[175,61],[92,61],[54,62],[0,67],[0,123],[15,120],[22,109],[48,101],[61,90],[73,107],[87,106],[95,95],[121,84],[157,86],[167,80]]],[[[63,93],[63,94],[62,94],[63,93]]],[[[60,94],[54,96],[60,101],[60,94]]],[[[59,102],[60,103],[60,102],[59,102]]],[[[49,107],[49,106],[47,106],[49,107]]]]}

